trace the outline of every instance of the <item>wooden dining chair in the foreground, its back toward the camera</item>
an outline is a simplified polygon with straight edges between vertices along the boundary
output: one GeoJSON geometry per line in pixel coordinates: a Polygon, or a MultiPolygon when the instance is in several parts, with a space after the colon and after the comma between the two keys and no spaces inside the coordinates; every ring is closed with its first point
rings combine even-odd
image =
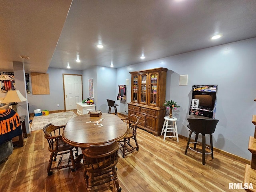
{"type": "Polygon", "coordinates": [[[92,187],[114,180],[118,192],[122,190],[116,174],[119,144],[116,141],[104,145],[91,145],[82,149],[84,162],[84,180],[87,191],[92,187]]]}

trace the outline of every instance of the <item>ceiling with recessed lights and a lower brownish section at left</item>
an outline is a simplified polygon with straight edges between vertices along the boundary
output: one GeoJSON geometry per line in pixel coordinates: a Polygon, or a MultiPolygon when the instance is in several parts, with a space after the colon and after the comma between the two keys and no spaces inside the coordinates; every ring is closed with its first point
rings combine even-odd
{"type": "Polygon", "coordinates": [[[0,71],[118,68],[254,38],[256,0],[1,0],[0,26],[0,71]]]}

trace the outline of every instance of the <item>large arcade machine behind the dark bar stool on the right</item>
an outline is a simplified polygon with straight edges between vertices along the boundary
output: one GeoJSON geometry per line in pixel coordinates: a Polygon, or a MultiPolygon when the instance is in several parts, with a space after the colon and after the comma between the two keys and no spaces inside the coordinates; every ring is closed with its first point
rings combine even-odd
{"type": "Polygon", "coordinates": [[[218,85],[193,85],[189,114],[215,118],[218,85]]]}

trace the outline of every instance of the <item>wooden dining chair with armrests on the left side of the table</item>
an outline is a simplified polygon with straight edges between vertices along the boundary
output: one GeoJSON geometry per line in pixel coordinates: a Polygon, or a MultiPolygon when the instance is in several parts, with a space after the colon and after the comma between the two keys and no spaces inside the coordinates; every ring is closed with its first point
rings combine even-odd
{"type": "MultiPolygon", "coordinates": [[[[75,147],[66,144],[63,140],[62,140],[62,136],[61,136],[61,132],[63,131],[63,128],[65,126],[54,126],[51,123],[47,124],[46,126],[44,126],[43,131],[44,131],[44,138],[47,139],[49,147],[48,150],[51,152],[50,155],[50,160],[48,163],[48,167],[47,167],[47,173],[48,175],[52,175],[52,171],[50,170],[54,170],[54,169],[62,169],[62,168],[67,168],[67,167],[73,167],[71,170],[75,171],[76,170],[76,166],[75,166],[75,160],[74,160],[74,155],[73,155],[73,149],[75,147]],[[68,154],[70,153],[70,156],[68,158],[68,164],[65,166],[60,166],[60,163],[62,161],[62,157],[64,154],[68,154]],[[57,160],[57,156],[60,155],[58,164],[56,167],[52,167],[52,161],[56,161],[57,160]],[[69,163],[70,164],[69,165],[69,163]]],[[[76,148],[76,156],[78,156],[78,148],[76,148]]]]}

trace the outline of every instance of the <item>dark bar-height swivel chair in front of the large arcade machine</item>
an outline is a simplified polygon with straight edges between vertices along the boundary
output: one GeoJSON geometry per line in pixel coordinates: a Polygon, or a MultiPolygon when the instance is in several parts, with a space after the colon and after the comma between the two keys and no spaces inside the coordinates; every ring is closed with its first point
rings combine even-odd
{"type": "Polygon", "coordinates": [[[185,150],[185,154],[187,154],[188,148],[191,150],[202,153],[202,164],[205,164],[205,155],[212,154],[213,159],[213,146],[212,146],[212,133],[214,133],[216,125],[219,120],[216,119],[202,119],[202,118],[188,118],[188,128],[190,129],[190,134],[188,136],[188,142],[185,150]],[[195,132],[196,138],[194,142],[190,142],[191,134],[195,132]],[[198,134],[202,134],[202,152],[196,150],[196,145],[198,144],[198,134]],[[210,148],[205,144],[205,134],[210,134],[210,148]],[[194,148],[189,146],[190,143],[194,143],[194,148]],[[208,148],[210,150],[209,153],[205,152],[205,149],[208,148]]]}

